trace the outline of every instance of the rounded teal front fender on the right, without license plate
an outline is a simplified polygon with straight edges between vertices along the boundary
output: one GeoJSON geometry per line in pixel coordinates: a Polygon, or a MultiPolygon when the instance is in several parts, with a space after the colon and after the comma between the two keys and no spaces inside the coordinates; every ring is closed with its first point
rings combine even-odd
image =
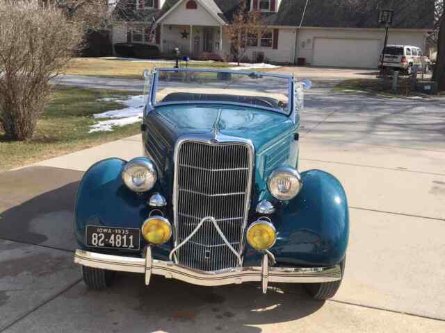
{"type": "Polygon", "coordinates": [[[330,173],[311,170],[301,176],[303,187],[298,196],[279,205],[271,216],[277,241],[270,250],[280,264],[339,264],[349,238],[345,191],[330,173]]]}

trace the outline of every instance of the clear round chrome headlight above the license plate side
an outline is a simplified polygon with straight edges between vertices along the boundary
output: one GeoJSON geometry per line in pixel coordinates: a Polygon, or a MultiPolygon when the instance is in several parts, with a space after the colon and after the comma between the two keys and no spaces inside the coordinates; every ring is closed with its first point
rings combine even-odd
{"type": "Polygon", "coordinates": [[[154,187],[156,167],[146,157],[137,157],[127,163],[122,171],[122,180],[131,191],[145,192],[154,187]]]}

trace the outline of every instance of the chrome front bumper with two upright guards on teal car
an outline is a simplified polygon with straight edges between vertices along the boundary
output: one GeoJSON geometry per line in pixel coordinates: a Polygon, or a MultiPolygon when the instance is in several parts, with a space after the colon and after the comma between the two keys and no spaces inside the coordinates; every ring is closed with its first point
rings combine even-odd
{"type": "Polygon", "coordinates": [[[341,279],[340,266],[298,268],[270,267],[268,255],[264,255],[262,265],[257,267],[235,267],[222,271],[196,271],[178,266],[174,262],[152,259],[152,250],[147,247],[145,258],[103,255],[85,250],[76,250],[74,262],[83,266],[102,268],[109,271],[122,271],[145,274],[145,284],[149,284],[152,274],[163,275],[200,286],[222,286],[243,282],[261,282],[266,293],[268,282],[315,283],[332,282],[341,279]]]}

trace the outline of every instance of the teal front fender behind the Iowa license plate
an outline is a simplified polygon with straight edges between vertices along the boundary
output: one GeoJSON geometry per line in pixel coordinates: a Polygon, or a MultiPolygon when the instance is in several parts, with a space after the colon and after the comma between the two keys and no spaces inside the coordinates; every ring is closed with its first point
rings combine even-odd
{"type": "MultiPolygon", "coordinates": [[[[147,219],[147,200],[156,187],[143,194],[128,189],[121,176],[125,164],[126,161],[118,158],[102,160],[92,165],[83,176],[77,192],[74,221],[74,234],[81,248],[88,249],[86,225],[140,228],[147,219]]],[[[140,248],[144,245],[142,239],[140,248]]]]}

